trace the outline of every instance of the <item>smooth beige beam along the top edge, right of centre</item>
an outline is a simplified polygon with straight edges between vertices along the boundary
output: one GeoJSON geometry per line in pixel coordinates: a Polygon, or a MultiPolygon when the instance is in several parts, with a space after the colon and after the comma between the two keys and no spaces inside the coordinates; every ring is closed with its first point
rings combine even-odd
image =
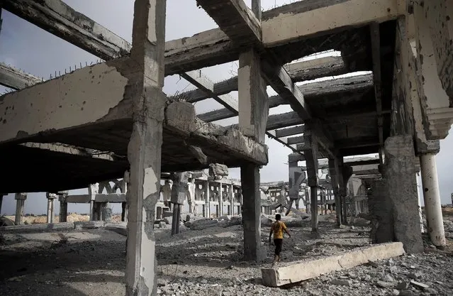
{"type": "Polygon", "coordinates": [[[272,15],[263,15],[262,40],[265,46],[273,47],[371,22],[389,21],[404,13],[403,1],[395,0],[300,2],[290,4],[291,10],[284,6],[274,9],[272,15]]]}

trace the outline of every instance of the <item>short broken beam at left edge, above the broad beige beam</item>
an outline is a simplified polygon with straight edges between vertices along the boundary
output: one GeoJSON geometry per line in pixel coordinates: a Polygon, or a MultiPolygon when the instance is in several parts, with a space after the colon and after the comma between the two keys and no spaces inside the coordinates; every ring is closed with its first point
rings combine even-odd
{"type": "Polygon", "coordinates": [[[0,85],[11,89],[24,89],[40,82],[43,82],[41,78],[0,62],[0,85]]]}

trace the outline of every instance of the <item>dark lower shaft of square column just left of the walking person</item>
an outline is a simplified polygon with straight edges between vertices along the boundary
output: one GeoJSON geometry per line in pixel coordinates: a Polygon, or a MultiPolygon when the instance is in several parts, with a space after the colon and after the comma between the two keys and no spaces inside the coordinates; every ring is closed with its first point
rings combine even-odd
{"type": "Polygon", "coordinates": [[[244,229],[244,257],[246,261],[262,261],[266,254],[261,244],[261,194],[259,192],[259,168],[242,165],[242,227],[244,229]]]}

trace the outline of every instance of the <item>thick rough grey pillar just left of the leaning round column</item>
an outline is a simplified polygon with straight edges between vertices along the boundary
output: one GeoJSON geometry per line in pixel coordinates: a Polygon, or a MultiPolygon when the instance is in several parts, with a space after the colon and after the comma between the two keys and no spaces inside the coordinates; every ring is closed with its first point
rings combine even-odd
{"type": "Polygon", "coordinates": [[[418,215],[415,150],[412,136],[388,137],[384,145],[387,194],[393,209],[393,234],[406,252],[423,252],[418,215]]]}

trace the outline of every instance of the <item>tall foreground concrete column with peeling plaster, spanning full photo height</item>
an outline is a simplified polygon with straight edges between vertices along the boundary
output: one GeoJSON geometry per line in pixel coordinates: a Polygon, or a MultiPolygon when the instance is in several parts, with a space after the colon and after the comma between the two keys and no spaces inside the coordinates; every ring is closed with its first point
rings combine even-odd
{"type": "MultiPolygon", "coordinates": [[[[134,75],[128,89],[133,131],[128,145],[128,192],[125,295],[156,295],[154,212],[160,194],[164,85],[165,0],[135,0],[134,75]]],[[[172,119],[169,119],[172,120],[172,119]]]]}

